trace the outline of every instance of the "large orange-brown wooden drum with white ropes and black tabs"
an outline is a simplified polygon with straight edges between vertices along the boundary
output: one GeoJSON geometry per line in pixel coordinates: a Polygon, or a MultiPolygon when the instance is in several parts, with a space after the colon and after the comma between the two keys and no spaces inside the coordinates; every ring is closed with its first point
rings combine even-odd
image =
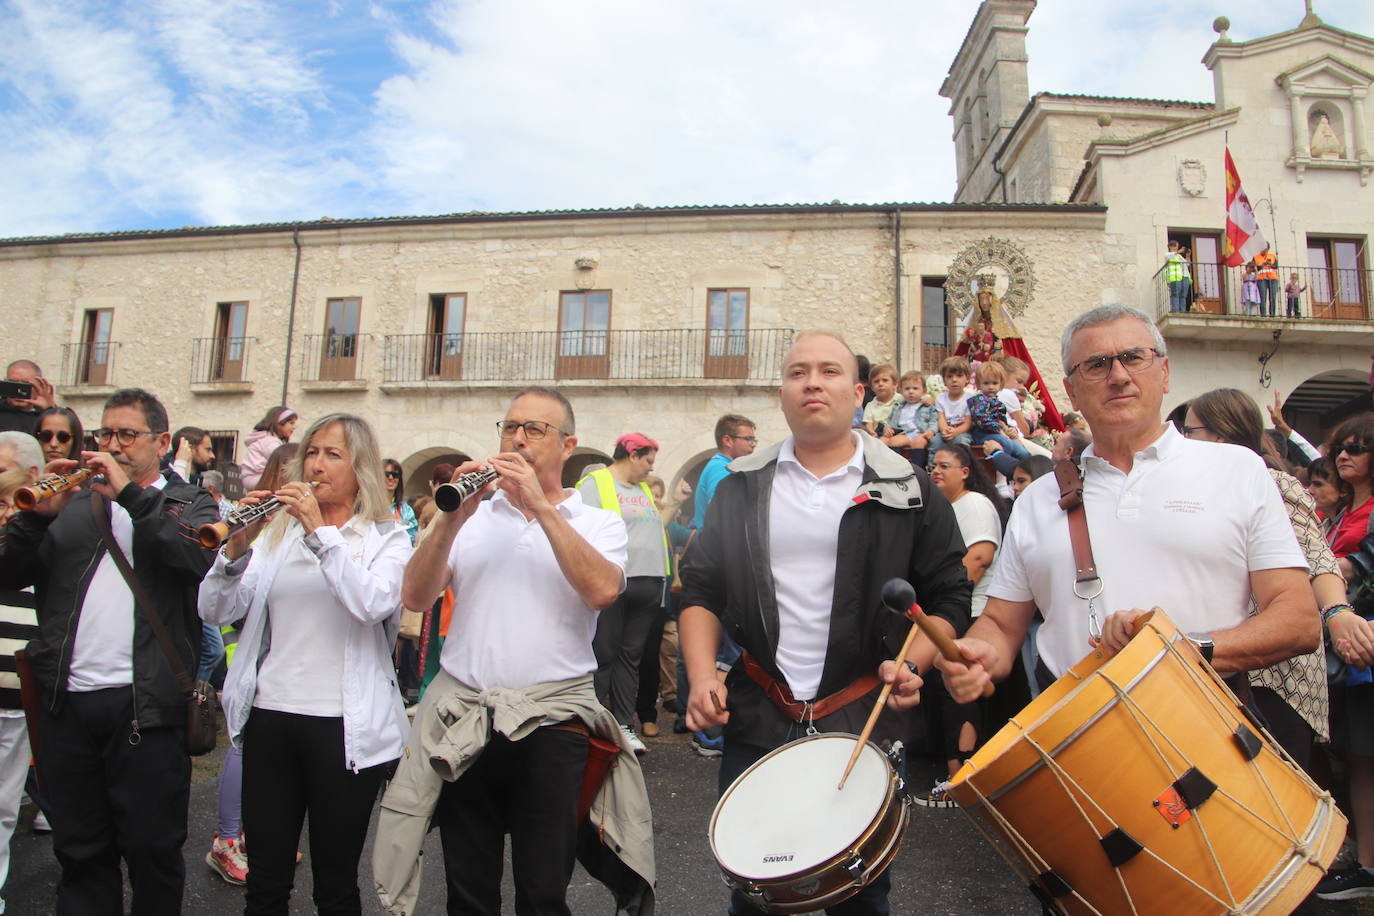
{"type": "Polygon", "coordinates": [[[1345,836],[1331,797],[1160,610],[1017,714],[949,794],[1073,915],[1289,913],[1345,836]]]}

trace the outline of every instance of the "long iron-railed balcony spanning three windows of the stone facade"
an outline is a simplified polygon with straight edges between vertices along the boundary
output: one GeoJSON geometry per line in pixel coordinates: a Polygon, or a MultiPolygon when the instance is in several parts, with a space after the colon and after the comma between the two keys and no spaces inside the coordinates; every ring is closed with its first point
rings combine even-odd
{"type": "Polygon", "coordinates": [[[723,331],[499,331],[392,334],[383,385],[467,382],[720,380],[776,383],[791,328],[723,331]]]}

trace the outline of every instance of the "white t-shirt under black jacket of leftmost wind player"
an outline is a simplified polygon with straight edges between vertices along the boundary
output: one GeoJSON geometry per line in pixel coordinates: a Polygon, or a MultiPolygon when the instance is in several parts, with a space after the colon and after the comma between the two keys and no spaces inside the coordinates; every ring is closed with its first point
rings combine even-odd
{"type": "MultiPolygon", "coordinates": [[[[166,485],[168,479],[159,474],[148,486],[161,490],[166,485]]],[[[114,542],[129,558],[129,566],[137,570],[133,556],[133,518],[114,500],[110,500],[110,527],[114,530],[114,542]]],[[[133,615],[139,612],[133,606],[129,584],[120,575],[120,567],[109,553],[102,553],[100,566],[91,577],[81,603],[81,619],[77,622],[71,667],[67,672],[69,691],[85,694],[133,683],[133,615]]]]}

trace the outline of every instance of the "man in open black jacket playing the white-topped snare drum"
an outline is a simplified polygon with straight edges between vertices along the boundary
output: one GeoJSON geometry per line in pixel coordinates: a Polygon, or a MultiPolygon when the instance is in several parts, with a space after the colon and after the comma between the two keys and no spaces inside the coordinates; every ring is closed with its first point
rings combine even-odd
{"type": "MultiPolygon", "coordinates": [[[[908,580],[947,633],[967,622],[971,586],[954,509],[923,471],[851,430],[863,398],[857,371],[840,338],[797,336],[779,390],[791,437],[731,464],[683,559],[687,726],[725,725],[721,791],[812,725],[857,733],[879,672],[893,681],[892,710],[919,702],[915,672],[882,663],[908,629],[882,607],[889,578],[908,580]],[[724,685],[716,677],[721,625],[745,650],[724,685]]],[[[933,656],[925,636],[907,654],[916,670],[933,656]]],[[[893,733],[896,722],[883,720],[894,718],[885,714],[875,737],[885,724],[893,733]]],[[[829,912],[886,913],[888,887],[883,873],[829,912]]],[[[760,911],[736,891],[730,912],[760,911]]]]}

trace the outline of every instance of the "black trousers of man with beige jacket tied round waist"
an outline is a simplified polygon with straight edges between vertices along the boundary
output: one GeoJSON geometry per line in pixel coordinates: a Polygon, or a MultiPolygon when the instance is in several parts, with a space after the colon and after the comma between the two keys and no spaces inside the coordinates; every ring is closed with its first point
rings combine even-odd
{"type": "Polygon", "coordinates": [[[569,916],[585,769],[587,735],[545,725],[518,742],[493,733],[467,772],[444,784],[434,823],[449,916],[500,916],[506,834],[517,916],[569,916]]]}

